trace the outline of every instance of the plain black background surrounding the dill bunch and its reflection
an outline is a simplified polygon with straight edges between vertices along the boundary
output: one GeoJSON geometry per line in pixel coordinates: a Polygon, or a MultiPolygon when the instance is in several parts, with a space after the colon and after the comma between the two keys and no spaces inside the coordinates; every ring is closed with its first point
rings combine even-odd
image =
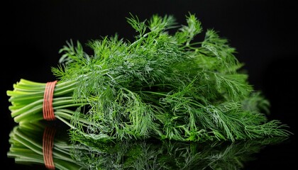
{"type": "MultiPolygon", "coordinates": [[[[19,79],[53,81],[58,51],[66,40],[87,40],[118,33],[133,40],[126,23],[129,13],[140,20],[171,14],[184,23],[196,14],[204,30],[214,28],[236,47],[249,81],[270,100],[270,119],[294,132],[289,142],[265,147],[243,169],[297,168],[297,7],[294,1],[9,1],[1,5],[1,162],[15,169],[31,169],[8,159],[9,132],[15,125],[6,91],[19,79]]],[[[43,166],[38,166],[43,169],[43,166]]]]}

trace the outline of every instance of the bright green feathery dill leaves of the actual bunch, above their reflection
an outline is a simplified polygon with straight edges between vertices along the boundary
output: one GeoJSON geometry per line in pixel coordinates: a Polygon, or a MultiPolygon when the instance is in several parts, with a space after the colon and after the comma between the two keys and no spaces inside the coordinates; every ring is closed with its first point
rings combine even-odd
{"type": "Polygon", "coordinates": [[[116,34],[86,46],[70,40],[60,50],[52,71],[57,86],[72,87],[67,95],[77,109],[63,119],[72,140],[234,142],[291,134],[267,120],[270,104],[248,83],[236,49],[215,30],[204,32],[196,16],[189,13],[185,25],[167,15],[127,21],[136,30],[132,42],[116,34]]]}

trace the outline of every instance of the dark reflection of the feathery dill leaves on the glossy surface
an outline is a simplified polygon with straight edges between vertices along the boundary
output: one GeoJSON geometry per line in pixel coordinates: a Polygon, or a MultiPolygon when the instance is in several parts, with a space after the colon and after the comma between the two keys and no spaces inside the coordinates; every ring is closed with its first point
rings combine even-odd
{"type": "MultiPolygon", "coordinates": [[[[78,162],[89,169],[244,169],[266,145],[285,137],[237,142],[126,141],[73,148],[78,162]]],[[[82,145],[81,145],[82,146],[82,145]]]]}

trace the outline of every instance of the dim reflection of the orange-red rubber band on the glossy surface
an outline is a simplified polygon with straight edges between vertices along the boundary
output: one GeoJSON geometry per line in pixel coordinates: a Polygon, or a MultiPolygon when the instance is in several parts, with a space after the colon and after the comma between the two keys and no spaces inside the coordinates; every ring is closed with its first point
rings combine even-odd
{"type": "Polygon", "coordinates": [[[53,160],[54,136],[56,130],[46,127],[43,131],[43,162],[47,169],[55,169],[53,160]]]}

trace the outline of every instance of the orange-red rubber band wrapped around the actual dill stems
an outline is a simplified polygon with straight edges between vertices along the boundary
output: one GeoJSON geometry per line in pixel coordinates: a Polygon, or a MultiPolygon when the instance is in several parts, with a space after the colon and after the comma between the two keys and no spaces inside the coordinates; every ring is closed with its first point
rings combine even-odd
{"type": "Polygon", "coordinates": [[[45,93],[43,95],[43,118],[45,120],[55,120],[53,109],[53,94],[56,83],[57,80],[45,84],[45,93]]]}

